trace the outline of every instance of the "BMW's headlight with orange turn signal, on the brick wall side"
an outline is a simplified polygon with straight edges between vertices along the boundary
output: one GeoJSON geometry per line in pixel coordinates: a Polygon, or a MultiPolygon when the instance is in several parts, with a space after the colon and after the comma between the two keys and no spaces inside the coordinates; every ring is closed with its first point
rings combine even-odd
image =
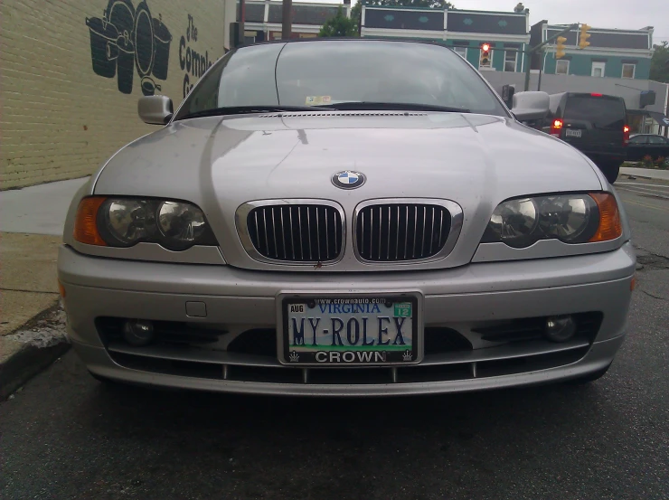
{"type": "Polygon", "coordinates": [[[74,239],[111,247],[150,242],[168,250],[218,244],[203,211],[192,203],[98,196],[81,201],[74,239]]]}

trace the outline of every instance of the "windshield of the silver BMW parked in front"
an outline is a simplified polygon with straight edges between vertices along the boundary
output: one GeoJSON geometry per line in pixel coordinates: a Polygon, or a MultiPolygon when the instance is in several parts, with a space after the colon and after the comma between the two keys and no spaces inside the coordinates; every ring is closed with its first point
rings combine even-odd
{"type": "Polygon", "coordinates": [[[379,109],[380,104],[508,116],[476,71],[446,47],[317,41],[231,52],[193,89],[176,119],[221,108],[379,109]]]}

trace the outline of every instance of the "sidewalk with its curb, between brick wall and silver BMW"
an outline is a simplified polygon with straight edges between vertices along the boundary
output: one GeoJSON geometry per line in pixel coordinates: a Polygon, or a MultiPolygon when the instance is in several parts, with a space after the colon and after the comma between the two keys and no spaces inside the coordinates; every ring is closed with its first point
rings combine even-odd
{"type": "Polygon", "coordinates": [[[0,400],[68,347],[56,259],[71,199],[86,181],[0,192],[0,400]]]}

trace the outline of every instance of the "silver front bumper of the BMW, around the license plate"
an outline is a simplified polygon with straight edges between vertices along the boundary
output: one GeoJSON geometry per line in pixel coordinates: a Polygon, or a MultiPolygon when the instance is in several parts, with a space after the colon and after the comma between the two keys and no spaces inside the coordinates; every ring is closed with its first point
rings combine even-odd
{"type": "Polygon", "coordinates": [[[308,275],[100,259],[61,247],[59,278],[66,291],[71,340],[92,373],[208,391],[363,396],[483,390],[598,372],[611,363],[623,341],[635,264],[629,243],[607,253],[561,259],[477,263],[437,271],[308,275]],[[601,315],[601,324],[587,341],[475,345],[466,352],[426,354],[423,363],[410,369],[301,372],[279,365],[271,356],[109,344],[96,325],[100,317],[126,317],[225,325],[237,332],[268,330],[277,325],[279,293],[380,290],[419,290],[426,327],[467,329],[482,322],[591,312],[601,315]],[[203,303],[206,317],[188,316],[186,302],[203,303]],[[170,363],[179,369],[173,370],[170,363]],[[297,372],[295,379],[284,376],[297,372]],[[335,375],[327,380],[315,376],[326,373],[335,375]],[[337,376],[344,373],[348,376],[337,376]]]}

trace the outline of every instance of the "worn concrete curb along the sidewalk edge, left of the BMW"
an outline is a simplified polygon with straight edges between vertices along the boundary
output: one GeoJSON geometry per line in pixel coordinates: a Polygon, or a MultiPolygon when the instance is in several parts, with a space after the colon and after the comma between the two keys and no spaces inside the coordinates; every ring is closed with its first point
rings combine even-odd
{"type": "MultiPolygon", "coordinates": [[[[37,325],[39,321],[54,316],[59,310],[60,306],[57,305],[42,311],[25,325],[14,330],[13,334],[37,325]]],[[[7,336],[9,335],[0,337],[0,353],[11,352],[0,361],[0,401],[5,401],[25,382],[65,354],[71,346],[68,342],[62,341],[48,347],[40,347],[30,343],[18,343],[7,336]]]]}

